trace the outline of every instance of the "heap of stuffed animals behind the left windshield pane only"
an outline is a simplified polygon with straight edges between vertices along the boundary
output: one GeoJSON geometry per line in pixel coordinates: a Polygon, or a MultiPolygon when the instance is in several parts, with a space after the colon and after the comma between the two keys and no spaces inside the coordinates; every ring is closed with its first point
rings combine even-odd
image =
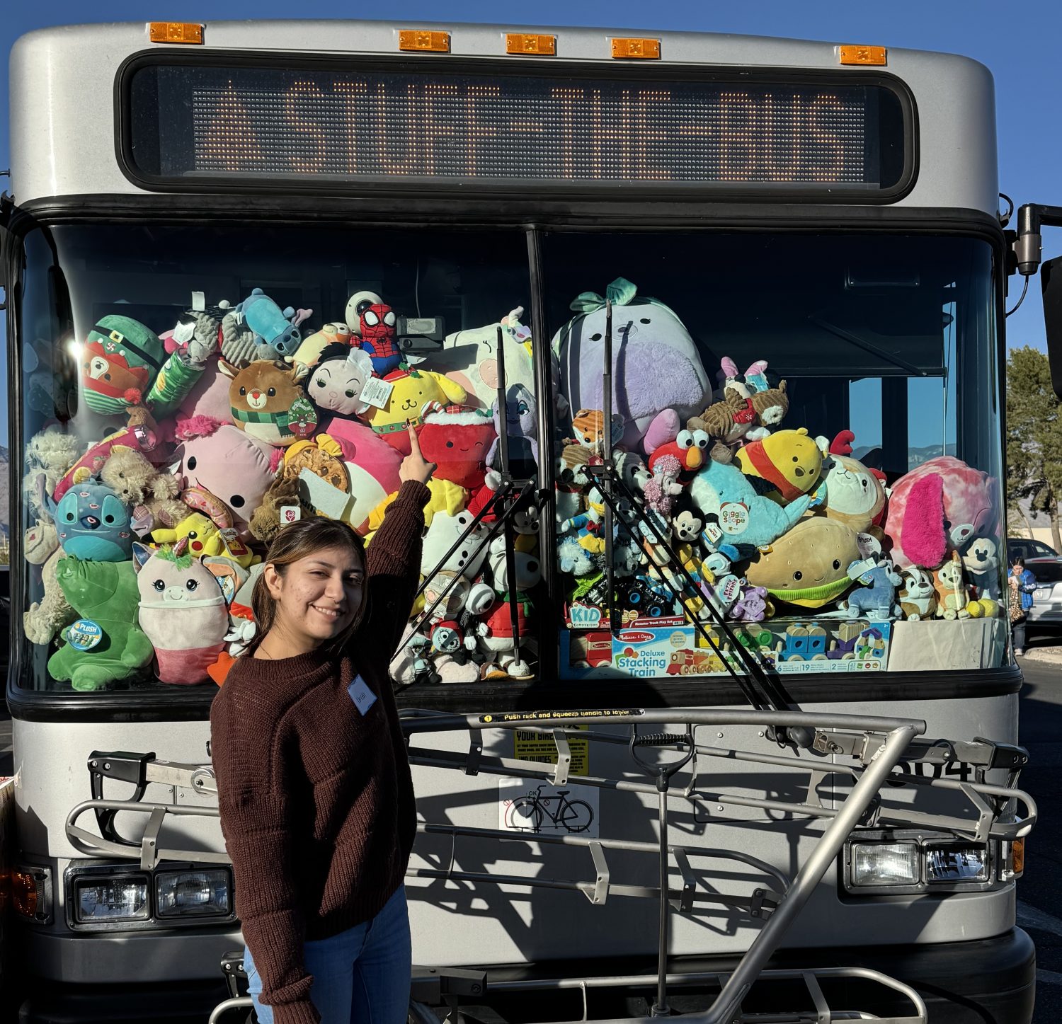
{"type": "MultiPolygon", "coordinates": [[[[371,543],[400,486],[407,422],[438,464],[425,509],[429,601],[451,583],[424,626],[429,650],[461,678],[530,675],[534,645],[514,643],[512,622],[523,632],[533,621],[524,591],[541,578],[537,509],[510,517],[519,593],[509,593],[506,531],[495,531],[501,546],[492,538],[490,550],[443,559],[475,515],[466,509],[499,486],[499,329],[511,470],[534,472],[521,312],[451,334],[430,365],[404,358],[395,311],[372,292],[312,333],[311,310],[281,309],[261,289],[189,310],[161,334],[101,317],[78,367],[91,426],[55,403],[25,449],[23,546],[37,568],[23,626],[52,649],[52,678],[79,691],[221,683],[255,635],[251,594],[269,542],[285,523],[324,515],[371,543]]],[[[439,677],[419,669],[404,678],[439,677]]]]}

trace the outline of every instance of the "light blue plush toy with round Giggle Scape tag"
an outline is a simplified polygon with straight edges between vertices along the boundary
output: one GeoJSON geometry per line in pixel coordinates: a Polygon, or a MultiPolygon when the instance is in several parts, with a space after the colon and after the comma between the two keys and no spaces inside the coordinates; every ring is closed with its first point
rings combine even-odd
{"type": "Polygon", "coordinates": [[[709,531],[714,543],[725,540],[752,548],[769,546],[791,530],[811,504],[811,499],[802,494],[788,505],[778,505],[757,494],[737,466],[712,461],[693,478],[689,497],[706,521],[714,520],[709,531]]]}

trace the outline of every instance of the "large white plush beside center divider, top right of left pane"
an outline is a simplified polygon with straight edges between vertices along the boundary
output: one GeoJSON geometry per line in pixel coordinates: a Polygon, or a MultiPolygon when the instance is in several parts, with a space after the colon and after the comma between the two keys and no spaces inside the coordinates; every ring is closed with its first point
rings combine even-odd
{"type": "MultiPolygon", "coordinates": [[[[531,359],[531,332],[520,324],[521,307],[501,318],[501,344],[504,346],[506,394],[523,385],[534,395],[534,363],[531,359]]],[[[490,409],[498,397],[498,324],[457,331],[443,341],[443,350],[431,357],[431,364],[464,388],[462,401],[477,409],[490,409]]]]}

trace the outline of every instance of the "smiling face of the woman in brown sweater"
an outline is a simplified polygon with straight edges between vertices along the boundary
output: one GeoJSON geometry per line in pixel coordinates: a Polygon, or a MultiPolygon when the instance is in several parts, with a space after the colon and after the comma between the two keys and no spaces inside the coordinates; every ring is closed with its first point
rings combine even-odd
{"type": "Polygon", "coordinates": [[[299,649],[333,640],[355,622],[364,602],[364,563],[345,548],[325,548],[288,566],[269,562],[263,577],[276,602],[271,632],[299,649]]]}

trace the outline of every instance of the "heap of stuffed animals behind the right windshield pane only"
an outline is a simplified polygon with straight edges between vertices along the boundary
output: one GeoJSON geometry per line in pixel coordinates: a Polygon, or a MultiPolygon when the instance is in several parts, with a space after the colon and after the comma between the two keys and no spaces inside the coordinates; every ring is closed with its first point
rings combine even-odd
{"type": "Polygon", "coordinates": [[[771,383],[766,362],[740,372],[723,358],[713,388],[671,310],[623,279],[607,297],[613,423],[602,411],[604,297],[579,296],[553,342],[573,410],[556,457],[558,559],[569,608],[596,606],[590,621],[605,624],[612,613],[643,627],[670,615],[999,614],[995,479],[945,455],[889,487],[853,456],[851,431],[827,439],[783,426],[787,384],[771,383]],[[606,429],[610,473],[595,468],[606,429]]]}

